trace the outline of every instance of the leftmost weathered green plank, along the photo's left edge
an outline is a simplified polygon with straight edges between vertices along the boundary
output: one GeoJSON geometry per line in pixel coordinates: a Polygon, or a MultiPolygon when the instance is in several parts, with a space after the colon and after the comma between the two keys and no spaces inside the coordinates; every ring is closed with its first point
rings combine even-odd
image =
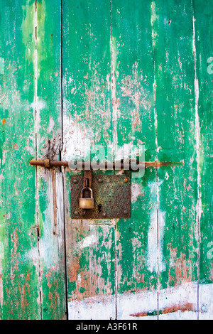
{"type": "Polygon", "coordinates": [[[39,319],[32,1],[0,4],[0,318],[39,319]],[[30,4],[31,2],[31,4],[30,4]]]}

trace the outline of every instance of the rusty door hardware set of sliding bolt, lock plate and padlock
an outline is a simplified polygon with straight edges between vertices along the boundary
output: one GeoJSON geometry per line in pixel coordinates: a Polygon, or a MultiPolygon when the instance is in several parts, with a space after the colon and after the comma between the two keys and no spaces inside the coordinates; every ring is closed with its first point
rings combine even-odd
{"type": "MultiPolygon", "coordinates": [[[[68,161],[54,161],[50,159],[32,160],[31,165],[52,168],[58,166],[69,167],[68,161]]],[[[81,162],[83,175],[71,175],[71,217],[75,219],[111,219],[131,217],[131,171],[139,168],[159,168],[163,166],[183,165],[182,162],[169,161],[138,161],[111,163],[111,169],[125,168],[125,174],[106,175],[93,174],[91,163],[81,162]],[[133,168],[131,163],[133,164],[133,168]],[[88,170],[88,165],[90,169],[88,170]],[[129,166],[126,168],[126,166],[129,166]],[[136,168],[136,166],[138,168],[136,168]]],[[[76,161],[76,166],[77,161],[76,161]]],[[[103,164],[102,164],[103,166],[103,164]]],[[[105,168],[107,169],[107,163],[105,168]]],[[[77,169],[77,168],[76,168],[77,169]]]]}

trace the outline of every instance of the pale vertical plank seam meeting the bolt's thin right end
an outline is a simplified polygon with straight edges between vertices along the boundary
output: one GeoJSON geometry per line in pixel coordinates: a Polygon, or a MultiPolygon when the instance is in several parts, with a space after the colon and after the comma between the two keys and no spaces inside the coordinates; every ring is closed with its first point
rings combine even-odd
{"type": "MultiPolygon", "coordinates": [[[[155,159],[158,161],[158,115],[157,115],[157,99],[156,99],[156,77],[155,77],[155,44],[154,44],[154,28],[153,28],[153,1],[151,2],[151,26],[152,26],[152,45],[153,45],[153,90],[154,90],[154,119],[155,119],[155,146],[156,146],[156,156],[155,159]]],[[[157,317],[159,318],[159,184],[158,184],[158,168],[156,168],[156,215],[157,215],[157,278],[158,278],[158,288],[157,288],[157,317]]]]}

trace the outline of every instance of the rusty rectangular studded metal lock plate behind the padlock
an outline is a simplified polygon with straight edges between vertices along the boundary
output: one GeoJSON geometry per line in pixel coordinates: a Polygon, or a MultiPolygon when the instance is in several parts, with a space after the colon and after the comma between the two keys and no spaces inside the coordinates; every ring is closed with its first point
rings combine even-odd
{"type": "Polygon", "coordinates": [[[71,176],[71,217],[110,219],[131,217],[131,175],[92,175],[94,209],[80,209],[84,176],[71,176]]]}

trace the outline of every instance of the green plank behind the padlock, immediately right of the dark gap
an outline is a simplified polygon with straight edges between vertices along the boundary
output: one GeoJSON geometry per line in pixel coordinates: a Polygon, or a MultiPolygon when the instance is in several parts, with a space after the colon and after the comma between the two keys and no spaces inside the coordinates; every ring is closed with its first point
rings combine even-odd
{"type": "MultiPolygon", "coordinates": [[[[66,0],[62,14],[62,158],[94,158],[89,150],[99,145],[104,159],[112,146],[110,1],[66,0]]],[[[114,221],[70,219],[69,170],[65,198],[69,318],[115,318],[114,221]]]]}

